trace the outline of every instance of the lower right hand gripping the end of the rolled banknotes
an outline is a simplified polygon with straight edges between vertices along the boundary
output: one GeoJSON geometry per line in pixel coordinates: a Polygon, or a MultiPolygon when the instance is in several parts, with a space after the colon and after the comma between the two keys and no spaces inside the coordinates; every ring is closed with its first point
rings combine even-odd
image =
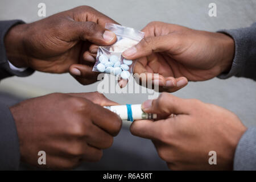
{"type": "Polygon", "coordinates": [[[234,152],[246,127],[232,112],[168,93],[144,102],[142,109],[158,114],[158,121],[135,121],[130,131],[138,137],[152,139],[160,158],[170,169],[233,168],[234,152]],[[217,165],[208,163],[209,151],[216,151],[217,165]]]}

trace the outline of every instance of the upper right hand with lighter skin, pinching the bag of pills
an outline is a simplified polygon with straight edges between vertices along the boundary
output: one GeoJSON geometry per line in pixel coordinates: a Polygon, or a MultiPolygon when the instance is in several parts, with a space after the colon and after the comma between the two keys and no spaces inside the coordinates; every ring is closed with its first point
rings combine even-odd
{"type": "Polygon", "coordinates": [[[138,59],[134,73],[159,73],[152,81],[160,91],[175,92],[187,80],[209,80],[232,65],[234,41],[228,35],[163,22],[151,22],[142,31],[146,38],[123,56],[138,59]]]}

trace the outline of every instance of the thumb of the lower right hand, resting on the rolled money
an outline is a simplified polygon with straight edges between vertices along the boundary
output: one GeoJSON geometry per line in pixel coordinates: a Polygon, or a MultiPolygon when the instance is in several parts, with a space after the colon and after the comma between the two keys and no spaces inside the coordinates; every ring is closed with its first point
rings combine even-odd
{"type": "Polygon", "coordinates": [[[169,93],[162,93],[156,100],[147,100],[142,104],[142,110],[154,114],[189,114],[189,102],[169,93]]]}

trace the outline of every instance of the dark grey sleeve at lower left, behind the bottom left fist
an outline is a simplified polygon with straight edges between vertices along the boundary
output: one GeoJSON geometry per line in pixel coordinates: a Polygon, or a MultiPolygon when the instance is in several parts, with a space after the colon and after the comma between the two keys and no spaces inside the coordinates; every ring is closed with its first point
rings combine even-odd
{"type": "Polygon", "coordinates": [[[9,107],[0,102],[0,170],[19,168],[19,139],[9,107]]]}

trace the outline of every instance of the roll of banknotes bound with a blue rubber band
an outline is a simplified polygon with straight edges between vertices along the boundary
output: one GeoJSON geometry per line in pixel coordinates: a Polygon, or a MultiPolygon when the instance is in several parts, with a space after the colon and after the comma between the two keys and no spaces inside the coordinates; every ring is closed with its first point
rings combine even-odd
{"type": "Polygon", "coordinates": [[[135,105],[117,105],[117,106],[104,106],[106,109],[118,114],[122,120],[134,121],[137,119],[156,119],[156,114],[145,113],[141,109],[141,104],[135,105]]]}

